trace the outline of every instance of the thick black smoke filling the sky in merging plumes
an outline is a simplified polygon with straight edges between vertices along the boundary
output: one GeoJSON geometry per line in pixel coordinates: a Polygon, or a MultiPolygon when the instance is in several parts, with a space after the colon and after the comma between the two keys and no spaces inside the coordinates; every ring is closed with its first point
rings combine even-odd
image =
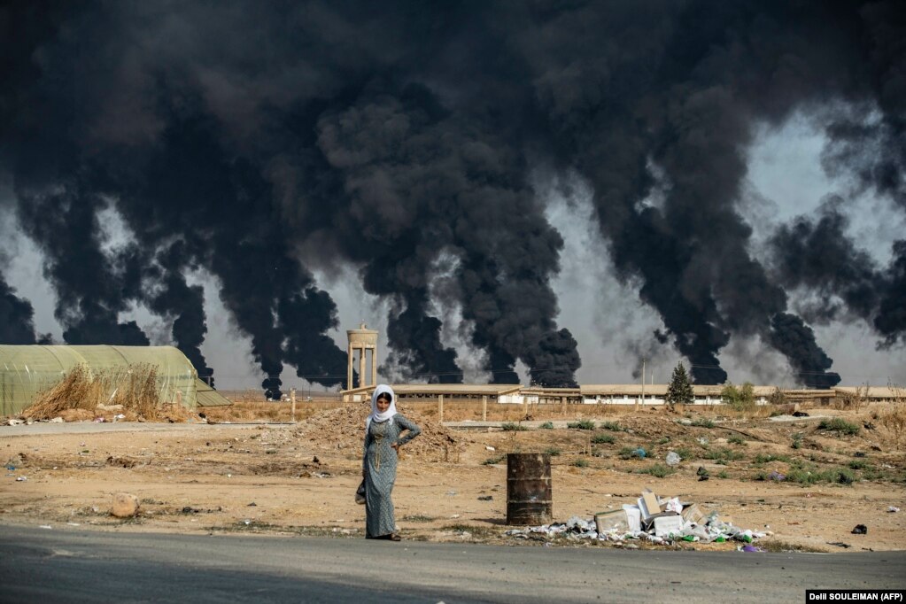
{"type": "Polygon", "coordinates": [[[833,299],[809,321],[857,317],[898,344],[906,244],[874,267],[845,238],[824,249],[817,233],[839,221],[803,218],[778,231],[766,268],[737,206],[747,149],[763,124],[805,111],[827,133],[824,168],[853,182],[841,203],[871,191],[906,209],[904,13],[883,1],[20,3],[0,8],[0,169],[65,340],[147,342],[120,322],[141,304],[210,378],[188,274],[211,275],[272,397],[284,364],[344,379],[336,306],[312,271],[348,264],[390,302],[387,368],[403,378],[462,379],[442,296],[494,381],[516,382],[522,361],[535,383],[574,385],[577,342],[550,285],[564,241],[529,184],[540,168],[590,183],[615,270],[641,283],[658,340],[699,383],[727,379],[731,337],[757,337],[802,383],[830,386],[839,376],[785,288],[833,299]],[[106,244],[111,211],[130,244],[106,244]],[[451,284],[432,288],[441,258],[451,284]],[[848,264],[831,296],[835,262],[848,264]]]}

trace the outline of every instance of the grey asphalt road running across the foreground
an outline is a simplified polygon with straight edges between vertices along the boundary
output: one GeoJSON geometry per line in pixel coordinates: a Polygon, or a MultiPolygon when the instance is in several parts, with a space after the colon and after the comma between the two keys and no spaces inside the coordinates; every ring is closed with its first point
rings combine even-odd
{"type": "Polygon", "coordinates": [[[0,526],[2,602],[804,602],[809,588],[904,587],[906,551],[622,551],[0,526]]]}

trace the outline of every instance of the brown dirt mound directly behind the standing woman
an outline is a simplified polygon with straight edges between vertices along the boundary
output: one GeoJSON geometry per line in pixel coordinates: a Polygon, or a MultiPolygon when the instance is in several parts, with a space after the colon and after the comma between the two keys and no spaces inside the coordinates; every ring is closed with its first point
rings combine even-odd
{"type": "MultiPolygon", "coordinates": [[[[346,407],[323,411],[309,417],[294,431],[294,436],[308,440],[322,449],[353,448],[361,451],[365,436],[365,418],[371,412],[369,403],[350,403],[346,407]]],[[[400,413],[421,428],[421,434],[401,449],[421,461],[438,461],[456,450],[457,440],[436,421],[413,409],[400,413]]]]}

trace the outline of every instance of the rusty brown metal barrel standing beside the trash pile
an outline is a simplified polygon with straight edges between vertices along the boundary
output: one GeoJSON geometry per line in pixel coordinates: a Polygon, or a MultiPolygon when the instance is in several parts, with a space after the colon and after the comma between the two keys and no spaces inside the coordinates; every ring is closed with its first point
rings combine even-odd
{"type": "Polygon", "coordinates": [[[551,456],[546,453],[506,455],[506,523],[547,524],[554,504],[551,456]]]}

